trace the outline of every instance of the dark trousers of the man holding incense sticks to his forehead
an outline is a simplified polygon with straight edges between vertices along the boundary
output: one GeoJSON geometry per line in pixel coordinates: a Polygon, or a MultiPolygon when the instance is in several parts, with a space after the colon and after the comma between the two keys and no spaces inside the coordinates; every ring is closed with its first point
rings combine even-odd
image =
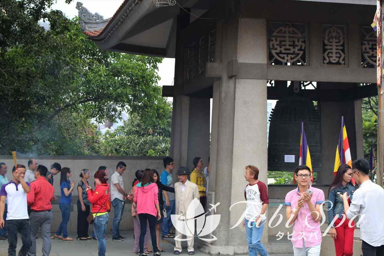
{"type": "Polygon", "coordinates": [[[18,256],[26,256],[32,246],[31,225],[29,219],[9,219],[7,220],[8,229],[8,256],[16,256],[17,233],[22,237],[23,246],[18,256]]]}

